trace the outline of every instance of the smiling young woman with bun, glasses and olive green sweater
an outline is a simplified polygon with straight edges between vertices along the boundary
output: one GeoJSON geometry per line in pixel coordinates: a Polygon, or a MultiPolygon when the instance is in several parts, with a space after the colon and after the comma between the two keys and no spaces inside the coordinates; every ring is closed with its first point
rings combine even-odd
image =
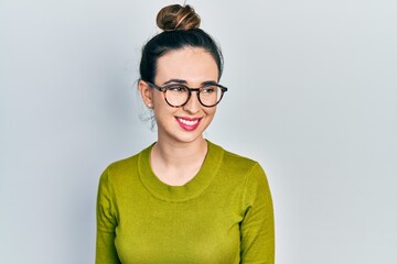
{"type": "Polygon", "coordinates": [[[222,54],[190,6],[163,8],[138,84],[158,141],[109,165],[97,200],[96,263],[275,263],[264,170],[203,138],[227,88],[222,54]]]}

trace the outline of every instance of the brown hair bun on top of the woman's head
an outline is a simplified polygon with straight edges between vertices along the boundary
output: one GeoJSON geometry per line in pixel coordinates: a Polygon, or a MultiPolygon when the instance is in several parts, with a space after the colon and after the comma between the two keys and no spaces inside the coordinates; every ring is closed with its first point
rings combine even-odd
{"type": "Polygon", "coordinates": [[[191,6],[171,4],[160,10],[155,21],[163,31],[187,31],[198,29],[201,20],[191,6]]]}

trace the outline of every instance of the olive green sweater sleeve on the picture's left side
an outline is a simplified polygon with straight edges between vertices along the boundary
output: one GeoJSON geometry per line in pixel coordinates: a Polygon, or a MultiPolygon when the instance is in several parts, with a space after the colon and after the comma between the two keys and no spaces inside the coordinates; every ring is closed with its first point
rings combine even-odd
{"type": "Polygon", "coordinates": [[[100,176],[97,196],[97,241],[96,264],[121,263],[115,246],[117,210],[114,204],[114,195],[108,178],[108,169],[100,176]]]}

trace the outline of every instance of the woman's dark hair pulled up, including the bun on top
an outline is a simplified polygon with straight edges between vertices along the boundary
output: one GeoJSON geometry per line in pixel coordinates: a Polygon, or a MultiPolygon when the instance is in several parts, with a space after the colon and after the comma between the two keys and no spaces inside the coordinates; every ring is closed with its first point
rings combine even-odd
{"type": "Polygon", "coordinates": [[[163,32],[153,36],[142,48],[139,67],[141,79],[154,82],[158,59],[183,47],[201,47],[208,52],[216,62],[219,79],[223,70],[221,48],[207,33],[198,29],[200,22],[198,14],[189,4],[162,8],[157,24],[163,32]]]}

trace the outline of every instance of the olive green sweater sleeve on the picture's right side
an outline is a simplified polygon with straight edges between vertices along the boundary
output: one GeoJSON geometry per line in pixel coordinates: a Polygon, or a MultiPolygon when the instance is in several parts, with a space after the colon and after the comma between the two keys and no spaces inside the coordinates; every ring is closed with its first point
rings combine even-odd
{"type": "Polygon", "coordinates": [[[275,263],[272,200],[265,172],[256,164],[248,174],[243,198],[240,255],[244,264],[275,263]]]}

